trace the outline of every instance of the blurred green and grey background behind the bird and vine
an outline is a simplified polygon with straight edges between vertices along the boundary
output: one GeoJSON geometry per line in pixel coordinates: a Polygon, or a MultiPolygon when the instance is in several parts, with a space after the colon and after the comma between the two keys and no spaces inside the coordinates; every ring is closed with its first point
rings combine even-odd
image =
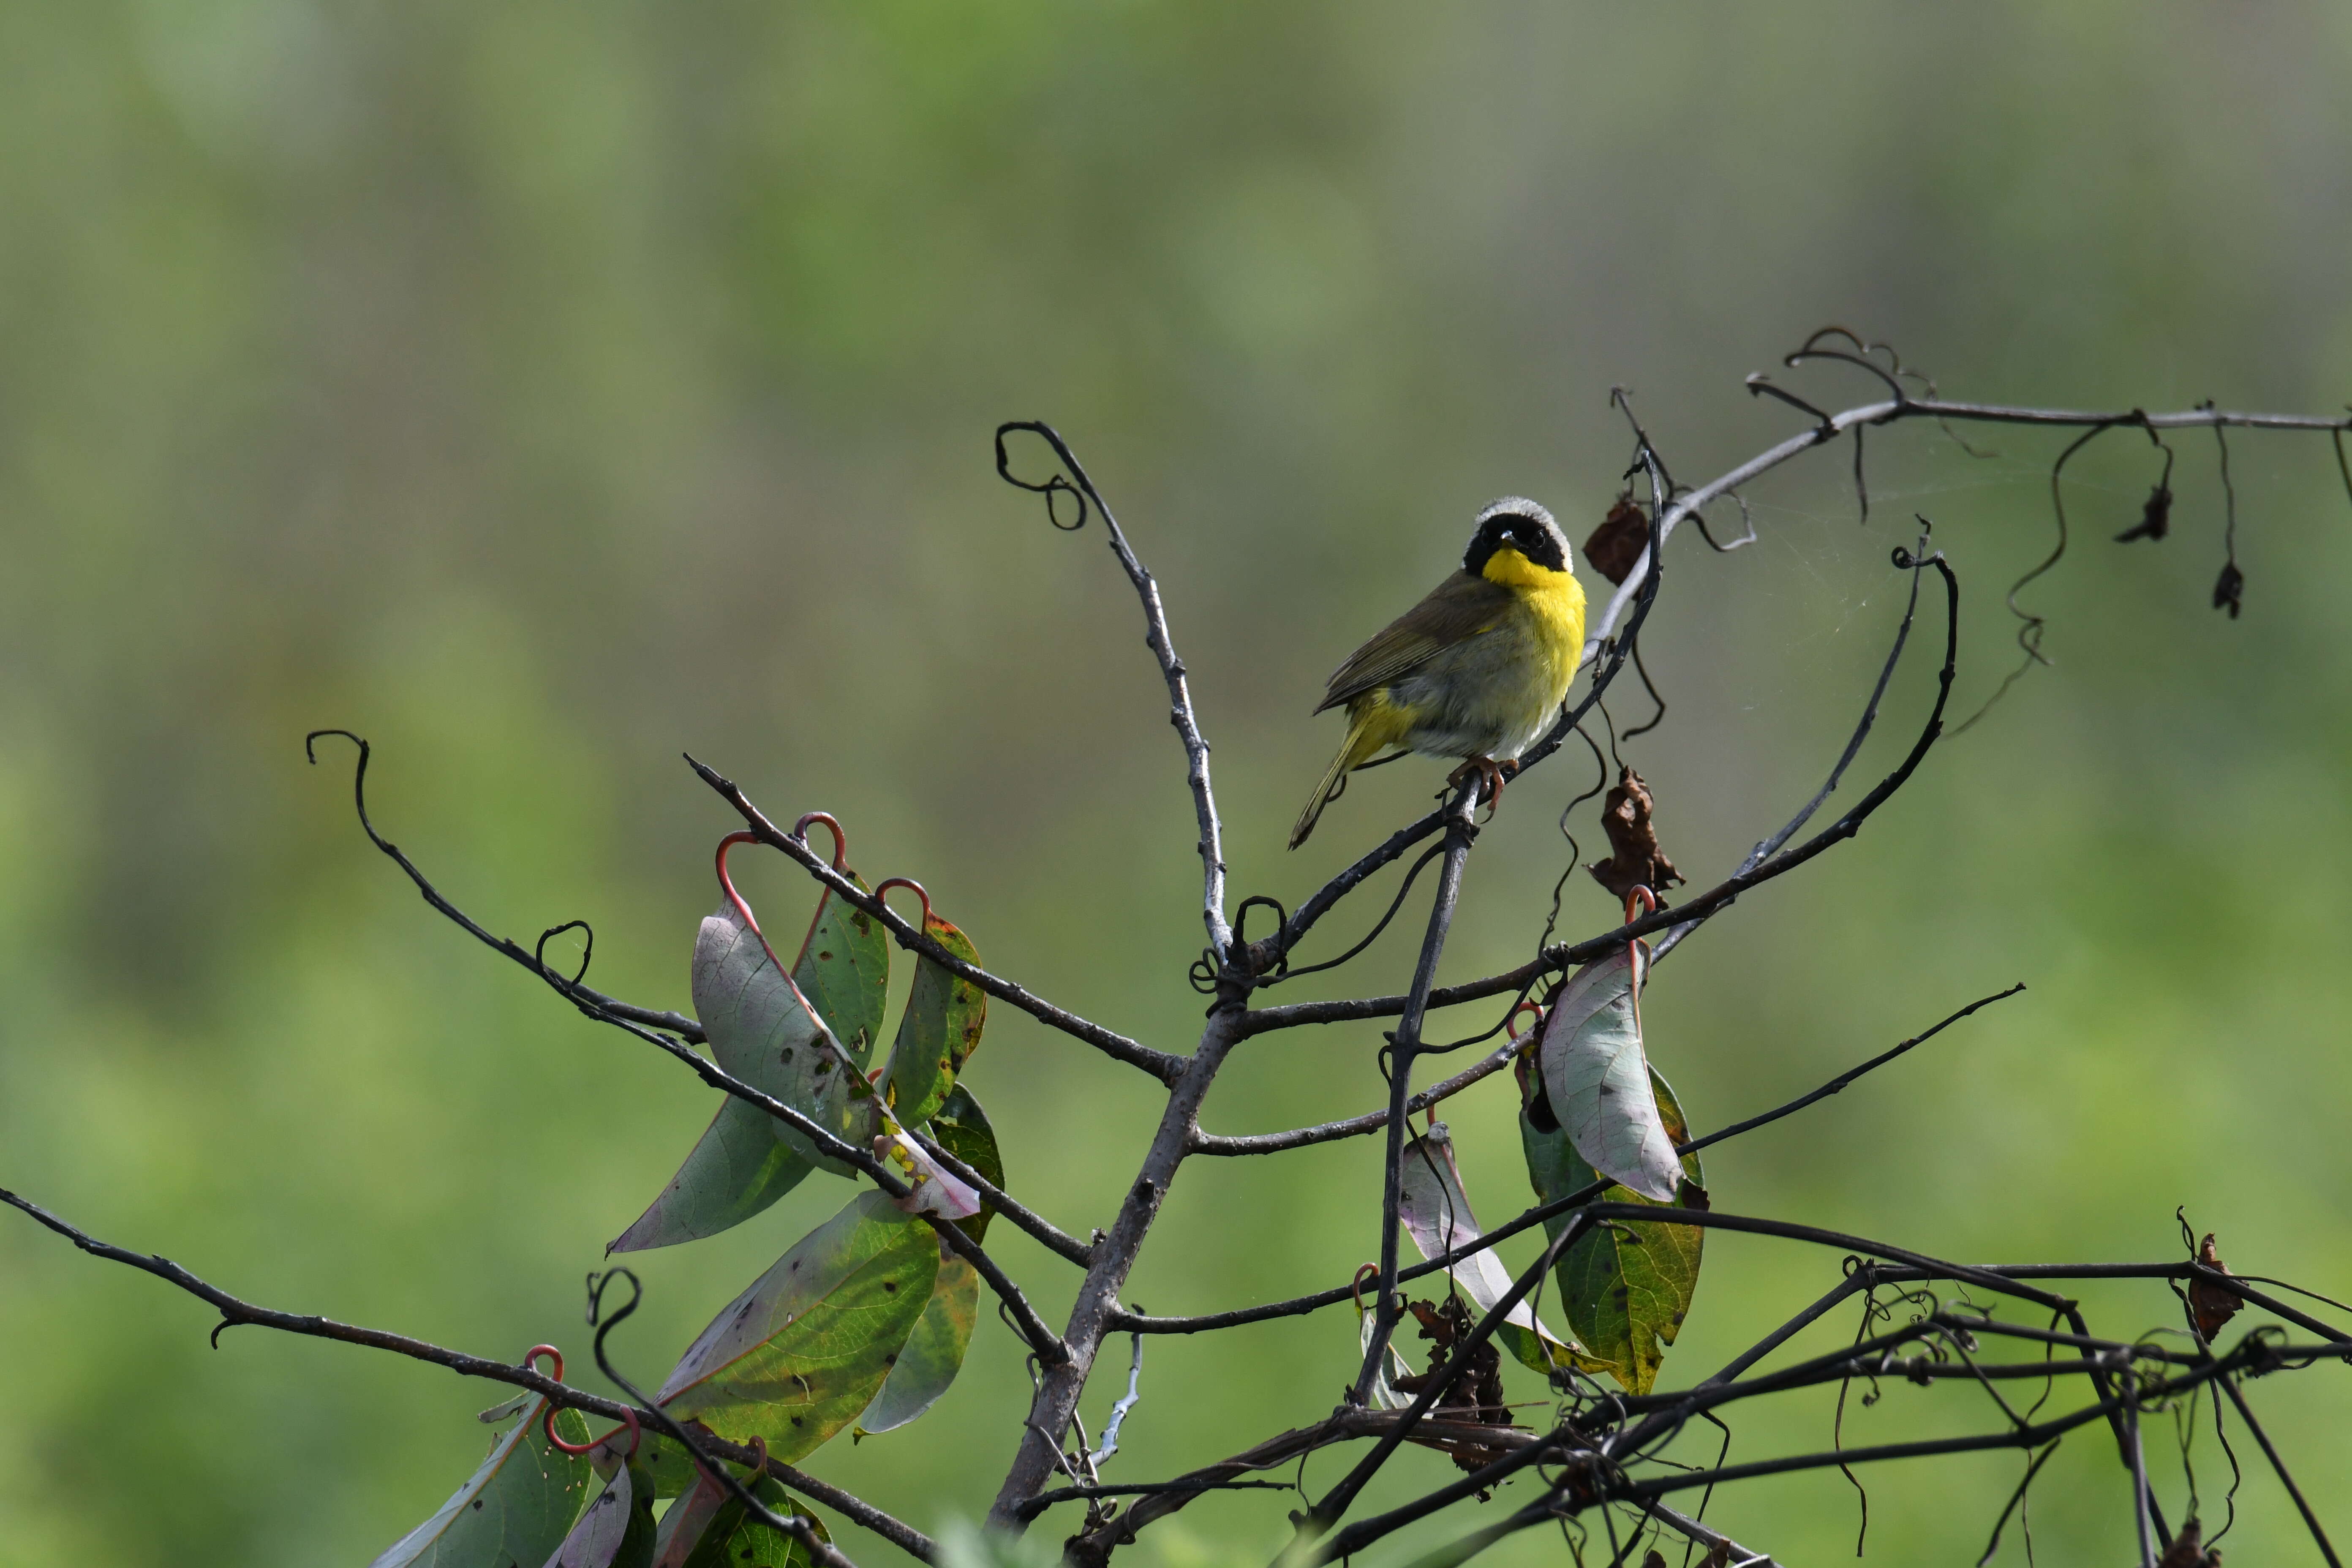
{"type": "MultiPolygon", "coordinates": [[[[379,825],[473,914],[524,940],[590,919],[593,978],[637,1001],[684,1004],[734,825],[691,750],[774,816],[842,816],[854,863],[922,877],[993,966],[1181,1051],[1181,755],[1101,534],[993,477],[1000,418],[1056,421],[1112,496],[1195,675],[1237,896],[1296,903],[1437,776],[1357,780],[1284,853],[1338,738],[1305,717],[1322,675],[1489,496],[1578,538],[1599,520],[1628,451],[1611,383],[1686,480],[1799,428],[1740,376],[1830,320],[1952,395],[2343,404],[2347,68],[2352,14],[2317,2],[0,5],[0,1182],[256,1300],[581,1359],[581,1274],[708,1091],[426,910],[358,832],[348,750],[303,766],[306,729],[376,743],[379,825]]],[[[1999,456],[1879,433],[1867,529],[1839,447],[1755,487],[1755,548],[1677,538],[1644,644],[1672,712],[1628,759],[1700,884],[1835,757],[1910,512],[1966,583],[1959,710],[2011,668],[1999,595],[2046,550],[2063,437],[1980,440],[1999,456]]],[[[2140,437],[2070,470],[2077,550],[2030,590],[2056,668],[1661,969],[1651,1051],[1698,1126],[2032,987],[1710,1154],[1717,1206],[2056,1260],[2176,1255],[2187,1204],[2234,1267],[2352,1286],[2352,512],[2324,440],[2232,442],[2232,623],[2206,609],[2213,444],[2178,447],[2161,545],[2107,543],[2154,475],[2140,437]]],[[[1898,679],[1858,776],[1907,745],[1929,675],[1898,679]]],[[[1571,752],[1510,790],[1446,976],[1526,954],[1588,780],[1571,752]]],[[[786,929],[809,898],[776,863],[748,891],[786,929]]],[[[1566,933],[1609,922],[1571,877],[1566,933]]],[[[1397,990],[1409,952],[1343,978],[1397,990]]],[[[1369,1110],[1376,1039],[1254,1041],[1207,1121],[1369,1110]]],[[[969,1081],[1018,1192],[1073,1232],[1110,1218],[1145,1079],[1000,1006],[969,1081]]],[[[1482,1213],[1515,1213],[1510,1091],[1449,1121],[1482,1213]]],[[[1376,1159],[1188,1166],[1129,1300],[1345,1279],[1376,1253],[1376,1159]]],[[[659,1378],[847,1194],[818,1178],[644,1255],[619,1354],[659,1378]]],[[[1058,1321],[1075,1272],[995,1237],[1058,1321]]],[[[1665,1375],[1835,1276],[1717,1237],[1665,1375]]],[[[2086,1302],[2124,1335],[2178,1324],[2154,1288],[2086,1302]]],[[[214,1352],[209,1326],[0,1215],[0,1563],[365,1563],[482,1450],[492,1385],[263,1331],[214,1352]]],[[[1152,1342],[1115,1474],[1317,1418],[1352,1354],[1345,1312],[1152,1342]]],[[[2343,1380],[2251,1389],[2340,1533],[2343,1380]]],[[[1023,1401],[983,1321],[929,1418],[811,1469],[934,1528],[985,1507],[1023,1401]]],[[[1964,1425],[1994,1418],[1896,1385],[1846,1439],[1964,1425]]],[[[1733,1460],[1818,1448],[1830,1399],[1733,1429],[1733,1460]]],[[[2178,1519],[2171,1436],[2152,1450],[2178,1519]]],[[[2303,1561],[2239,1455],[2225,1547],[2303,1561]]],[[[2018,1469],[1870,1472],[1870,1554],[1973,1561],[2018,1469]]],[[[1367,1507],[1446,1474],[1409,1455],[1367,1507]]],[[[1134,1554],[1256,1563],[1294,1505],[1202,1502],[1134,1554]]],[[[1823,1472],[1710,1519],[1830,1561],[1856,1505],[1823,1472]]],[[[2124,1561],[2112,1446],[2072,1439],[2032,1519],[2044,1561],[2124,1561]]],[[[1552,1533],[1491,1554],[1562,1559],[1552,1533]]]]}

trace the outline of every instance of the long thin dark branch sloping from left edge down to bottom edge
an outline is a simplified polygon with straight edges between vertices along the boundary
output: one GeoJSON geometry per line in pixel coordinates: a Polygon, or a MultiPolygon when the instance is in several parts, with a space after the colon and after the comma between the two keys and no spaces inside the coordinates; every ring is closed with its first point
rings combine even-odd
{"type": "MultiPolygon", "coordinates": [[[[647,1425],[656,1422],[656,1410],[652,1410],[652,1408],[628,1406],[628,1403],[623,1403],[619,1399],[604,1399],[602,1394],[590,1394],[590,1392],[579,1389],[579,1387],[574,1387],[569,1382],[557,1382],[557,1380],[539,1373],[536,1366],[515,1366],[510,1361],[494,1361],[489,1356],[470,1356],[470,1354],[466,1354],[461,1349],[447,1349],[447,1347],[433,1345],[428,1340],[414,1340],[414,1338],[409,1338],[405,1333],[388,1333],[383,1328],[362,1328],[358,1324],[341,1324],[341,1321],[329,1319],[329,1316],[296,1314],[296,1312],[280,1312],[275,1307],[261,1307],[256,1302],[249,1302],[249,1300],[242,1300],[238,1295],[230,1295],[228,1291],[223,1291],[223,1288],[219,1288],[219,1286],[214,1286],[214,1284],[209,1284],[209,1281],[191,1274],[188,1269],[183,1269],[181,1265],[172,1262],[169,1258],[160,1258],[160,1255],[153,1255],[153,1253],[134,1253],[134,1251],[115,1246],[111,1241],[99,1241],[89,1232],[78,1229],[75,1225],[71,1225],[64,1218],[49,1213],[40,1204],[33,1204],[26,1197],[7,1192],[5,1187],[0,1187],[0,1204],[9,1204],[12,1208],[19,1208],[19,1211],[33,1215],[40,1225],[49,1227],[52,1232],[56,1232],[66,1241],[73,1241],[73,1246],[78,1246],[80,1251],[89,1253],[92,1258],[106,1258],[108,1262],[122,1262],[122,1265],[134,1267],[134,1269],[139,1269],[143,1274],[153,1274],[155,1279],[162,1279],[165,1284],[176,1286],[176,1288],[186,1291],[188,1295],[193,1295],[193,1298],[202,1300],[205,1305],[209,1305],[214,1312],[221,1314],[221,1321],[212,1331],[214,1347],[219,1347],[223,1328],[238,1328],[238,1326],[247,1326],[249,1324],[249,1326],[256,1326],[256,1328],[275,1328],[280,1333],[296,1333],[296,1335],[306,1335],[306,1338],[313,1338],[313,1340],[336,1340],[341,1345],[362,1345],[367,1349],[388,1349],[395,1356],[409,1356],[412,1361],[426,1361],[430,1366],[449,1368],[452,1373],[459,1373],[461,1378],[485,1378],[489,1382],[506,1382],[506,1385],[517,1387],[517,1389],[529,1389],[534,1394],[546,1396],[548,1401],[553,1401],[557,1406],[567,1406],[567,1408],[574,1408],[574,1410],[586,1410],[590,1415],[602,1415],[607,1420],[628,1420],[630,1415],[635,1415],[640,1422],[647,1422],[647,1425]]],[[[746,1467],[750,1467],[750,1465],[760,1462],[760,1453],[757,1450],[743,1448],[739,1443],[729,1443],[727,1439],[720,1439],[720,1436],[701,1436],[699,1443],[703,1448],[717,1453],[722,1460],[727,1460],[731,1465],[746,1465],[746,1467]]],[[[938,1547],[931,1542],[929,1535],[924,1535],[922,1530],[917,1530],[917,1528],[913,1528],[908,1523],[901,1523],[901,1521],[891,1519],[889,1514],[884,1514],[882,1509],[873,1507],[863,1497],[856,1497],[854,1493],[844,1493],[842,1488],[833,1486],[830,1481],[818,1481],[816,1476],[804,1474],[800,1469],[793,1469],[790,1465],[781,1465],[776,1460],[767,1462],[767,1472],[771,1476],[776,1476],[781,1483],[786,1483],[788,1488],[793,1488],[793,1490],[797,1490],[797,1493],[802,1493],[807,1497],[814,1497],[816,1502],[823,1502],[830,1509],[837,1509],[840,1514],[854,1519],[856,1523],[866,1526],[875,1535],[882,1535],[884,1540],[889,1540],[891,1544],[906,1549],[908,1554],[913,1554],[913,1556],[917,1556],[917,1559],[922,1559],[927,1563],[931,1563],[931,1561],[938,1559],[938,1547]]]]}

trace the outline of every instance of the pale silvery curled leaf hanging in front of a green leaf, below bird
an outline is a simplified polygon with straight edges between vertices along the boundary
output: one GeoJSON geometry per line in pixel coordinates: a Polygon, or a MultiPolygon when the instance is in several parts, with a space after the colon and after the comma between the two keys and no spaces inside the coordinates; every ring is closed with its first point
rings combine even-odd
{"type": "Polygon", "coordinates": [[[1679,1166],[1642,1053],[1639,978],[1646,957],[1642,943],[1630,943],[1569,976],[1543,1020],[1538,1060],[1552,1112],[1585,1164],[1668,1204],[1679,1166]]]}

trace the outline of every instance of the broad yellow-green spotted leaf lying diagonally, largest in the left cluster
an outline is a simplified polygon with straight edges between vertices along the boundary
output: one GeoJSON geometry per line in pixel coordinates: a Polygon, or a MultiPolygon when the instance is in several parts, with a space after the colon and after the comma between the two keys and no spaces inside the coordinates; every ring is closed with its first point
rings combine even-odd
{"type": "Polygon", "coordinates": [[[861,1192],[703,1328],[659,1399],[790,1465],[873,1403],[936,1276],[938,1234],[861,1192]]]}

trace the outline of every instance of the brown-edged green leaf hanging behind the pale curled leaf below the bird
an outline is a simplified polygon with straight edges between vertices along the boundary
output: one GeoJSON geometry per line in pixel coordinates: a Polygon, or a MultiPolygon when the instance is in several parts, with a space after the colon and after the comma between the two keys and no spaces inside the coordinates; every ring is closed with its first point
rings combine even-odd
{"type": "MultiPolygon", "coordinates": [[[[1689,1138],[1682,1105],[1658,1070],[1649,1072],[1651,1103],[1675,1143],[1689,1138]]],[[[1519,1143],[1526,1150],[1526,1175],[1538,1201],[1566,1197],[1602,1180],[1571,1147],[1566,1131],[1550,1112],[1550,1100],[1531,1093],[1519,1107],[1519,1143]]],[[[1677,1201],[1686,1208],[1708,1206],[1708,1173],[1698,1154],[1682,1157],[1677,1201]]],[[[1609,1187],[1602,1204],[1649,1204],[1639,1192],[1609,1187]]],[[[1557,1237],[1569,1215],[1543,1222],[1557,1237]]],[[[1559,1258],[1552,1276],[1559,1281],[1562,1316],[1583,1349],[1609,1366],[1609,1373],[1632,1394],[1649,1394],[1665,1361],[1665,1345],[1682,1333],[1682,1319],[1698,1291],[1698,1255],[1705,1229],[1696,1225],[1611,1222],[1578,1237],[1559,1258]]]]}

